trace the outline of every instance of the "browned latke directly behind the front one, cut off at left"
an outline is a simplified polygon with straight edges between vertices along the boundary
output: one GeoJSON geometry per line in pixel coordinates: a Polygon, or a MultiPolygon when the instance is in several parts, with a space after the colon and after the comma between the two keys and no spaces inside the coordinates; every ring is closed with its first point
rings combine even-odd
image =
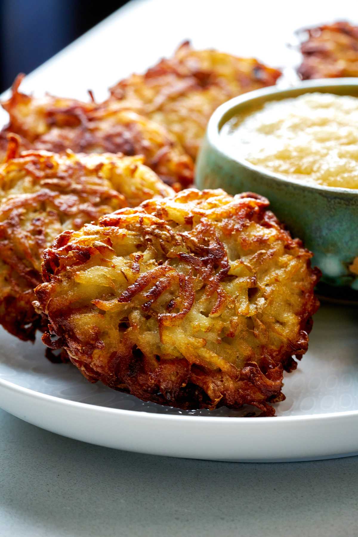
{"type": "MultiPolygon", "coordinates": [[[[9,157],[16,153],[10,141],[9,157]]],[[[0,166],[0,324],[20,339],[44,325],[32,306],[42,252],[62,231],[173,193],[141,157],[27,151],[0,166]]]]}

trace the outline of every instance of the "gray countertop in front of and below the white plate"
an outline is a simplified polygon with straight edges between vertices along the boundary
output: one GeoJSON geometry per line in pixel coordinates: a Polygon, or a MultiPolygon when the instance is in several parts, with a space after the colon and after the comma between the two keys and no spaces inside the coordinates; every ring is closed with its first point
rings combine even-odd
{"type": "Polygon", "coordinates": [[[252,464],[115,451],[0,410],[0,535],[355,537],[358,458],[252,464]]]}

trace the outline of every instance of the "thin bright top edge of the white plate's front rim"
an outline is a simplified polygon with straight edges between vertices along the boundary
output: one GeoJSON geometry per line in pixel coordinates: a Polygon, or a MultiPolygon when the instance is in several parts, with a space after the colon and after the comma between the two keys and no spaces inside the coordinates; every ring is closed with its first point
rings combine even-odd
{"type": "Polygon", "coordinates": [[[253,427],[258,427],[262,422],[269,423],[271,421],[270,418],[275,418],[273,420],[273,424],[277,423],[302,423],[302,422],[311,422],[311,421],[321,421],[321,420],[336,420],[341,418],[358,418],[358,410],[344,410],[344,411],[338,411],[338,412],[325,412],[325,413],[319,413],[319,414],[303,414],[303,415],[296,415],[296,416],[265,416],[265,417],[255,417],[254,419],[249,419],[247,417],[235,417],[235,416],[187,416],[187,415],[177,415],[177,414],[160,414],[156,412],[147,412],[145,410],[143,411],[137,411],[137,410],[127,410],[127,409],[118,409],[118,408],[111,408],[111,407],[104,407],[103,405],[98,404],[90,404],[90,403],[83,403],[81,401],[72,401],[71,399],[64,399],[63,397],[57,397],[55,395],[49,395],[44,394],[42,391],[36,391],[31,388],[25,388],[24,386],[19,386],[19,384],[14,384],[13,382],[3,379],[0,376],[0,389],[5,388],[8,390],[11,390],[15,393],[21,394],[23,396],[32,397],[36,400],[43,401],[43,402],[49,402],[56,405],[65,405],[67,407],[73,407],[76,409],[82,409],[84,411],[92,410],[94,412],[98,413],[109,413],[112,415],[118,415],[123,417],[132,417],[135,419],[135,417],[145,417],[146,419],[164,419],[164,420],[170,420],[170,421],[179,421],[179,422],[203,422],[203,423],[222,423],[222,424],[240,424],[245,423],[248,425],[251,424],[257,424],[252,425],[253,427]]]}

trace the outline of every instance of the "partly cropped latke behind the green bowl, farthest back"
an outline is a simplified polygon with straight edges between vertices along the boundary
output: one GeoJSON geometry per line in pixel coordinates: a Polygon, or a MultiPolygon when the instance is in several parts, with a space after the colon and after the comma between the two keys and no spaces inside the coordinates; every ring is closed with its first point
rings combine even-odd
{"type": "Polygon", "coordinates": [[[324,24],[305,30],[301,44],[303,79],[358,76],[358,26],[347,22],[324,24]]]}

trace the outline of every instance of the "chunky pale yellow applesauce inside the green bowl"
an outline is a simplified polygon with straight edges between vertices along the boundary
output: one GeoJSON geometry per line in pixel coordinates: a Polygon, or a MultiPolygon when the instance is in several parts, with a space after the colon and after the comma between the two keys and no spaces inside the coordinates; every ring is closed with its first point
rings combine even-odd
{"type": "Polygon", "coordinates": [[[288,179],[358,188],[358,98],[305,93],[236,115],[221,129],[237,155],[288,179]]]}

